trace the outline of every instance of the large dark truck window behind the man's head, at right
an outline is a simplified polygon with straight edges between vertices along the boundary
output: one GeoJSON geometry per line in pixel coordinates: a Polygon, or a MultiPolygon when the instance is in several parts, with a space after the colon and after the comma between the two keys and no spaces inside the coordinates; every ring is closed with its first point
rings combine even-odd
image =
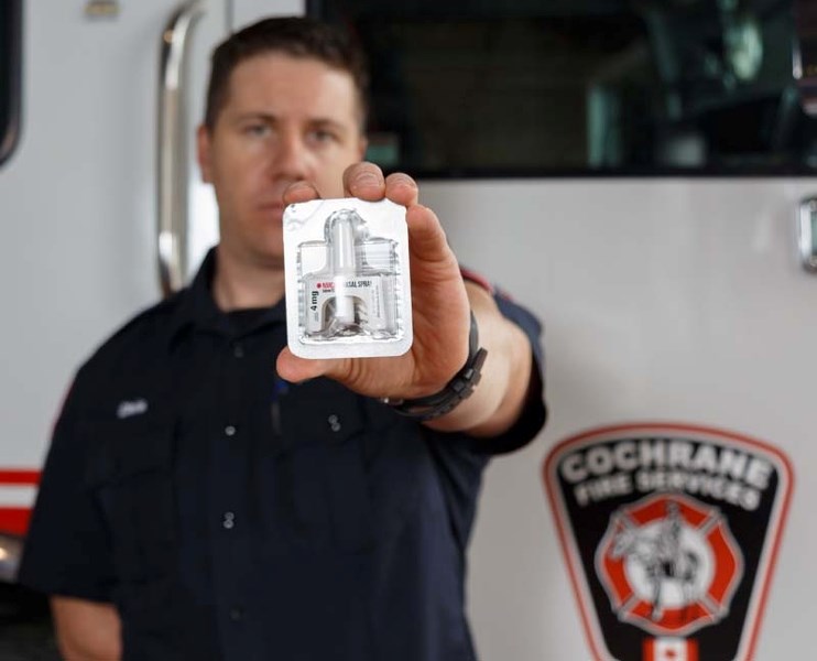
{"type": "Polygon", "coordinates": [[[311,0],[372,68],[369,158],[425,177],[814,175],[793,0],[311,0]]]}

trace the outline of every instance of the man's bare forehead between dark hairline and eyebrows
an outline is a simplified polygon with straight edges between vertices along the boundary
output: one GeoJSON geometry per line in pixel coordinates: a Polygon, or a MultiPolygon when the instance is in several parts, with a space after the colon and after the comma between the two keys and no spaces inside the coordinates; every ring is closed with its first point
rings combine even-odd
{"type": "Polygon", "coordinates": [[[330,119],[356,124],[360,118],[349,73],[313,57],[285,53],[254,55],[232,71],[226,113],[271,113],[281,119],[330,119]]]}

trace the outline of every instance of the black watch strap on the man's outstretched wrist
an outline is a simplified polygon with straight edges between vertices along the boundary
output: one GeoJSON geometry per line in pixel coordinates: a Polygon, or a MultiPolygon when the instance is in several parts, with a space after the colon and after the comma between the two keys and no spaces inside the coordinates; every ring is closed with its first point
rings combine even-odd
{"type": "Polygon", "coordinates": [[[417,399],[394,400],[385,398],[383,401],[391,405],[401,415],[415,418],[420,421],[434,420],[453,411],[462,400],[468,399],[479,383],[482,365],[488,351],[479,346],[479,329],[477,319],[471,312],[471,328],[468,334],[468,359],[465,366],[445,388],[435,394],[417,399]]]}

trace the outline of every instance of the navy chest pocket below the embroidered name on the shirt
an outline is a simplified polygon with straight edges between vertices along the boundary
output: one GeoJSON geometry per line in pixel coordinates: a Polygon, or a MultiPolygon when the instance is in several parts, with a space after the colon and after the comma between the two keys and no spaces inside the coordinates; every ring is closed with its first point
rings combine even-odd
{"type": "Polygon", "coordinates": [[[94,447],[86,480],[108,522],[117,575],[166,576],[175,559],[173,427],[97,422],[85,433],[94,447]]]}

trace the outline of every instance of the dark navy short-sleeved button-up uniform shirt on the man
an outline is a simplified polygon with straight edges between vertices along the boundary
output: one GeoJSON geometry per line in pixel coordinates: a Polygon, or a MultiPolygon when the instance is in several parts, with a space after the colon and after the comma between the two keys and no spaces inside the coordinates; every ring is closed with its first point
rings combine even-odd
{"type": "MultiPolygon", "coordinates": [[[[115,604],[129,661],[472,661],[480,477],[544,423],[538,369],[492,440],[434,432],[328,379],[287,384],[283,302],[219,312],[214,263],[79,370],[20,581],[115,604]]],[[[541,365],[536,321],[498,302],[541,365]]]]}

